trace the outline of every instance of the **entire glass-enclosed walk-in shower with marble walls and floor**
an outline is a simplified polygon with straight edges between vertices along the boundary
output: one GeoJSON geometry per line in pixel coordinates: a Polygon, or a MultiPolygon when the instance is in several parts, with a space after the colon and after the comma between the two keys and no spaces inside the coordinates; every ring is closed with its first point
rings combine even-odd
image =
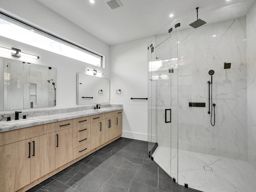
{"type": "Polygon", "coordinates": [[[177,18],[148,43],[148,156],[182,186],[255,191],[255,12],[245,0],[199,12],[198,28],[177,18]]]}

